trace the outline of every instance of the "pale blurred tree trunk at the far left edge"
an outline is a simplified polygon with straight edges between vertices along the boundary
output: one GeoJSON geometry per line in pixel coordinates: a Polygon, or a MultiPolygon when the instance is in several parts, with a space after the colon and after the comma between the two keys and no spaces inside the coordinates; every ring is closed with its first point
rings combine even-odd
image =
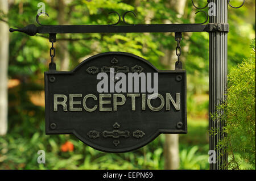
{"type": "MultiPolygon", "coordinates": [[[[0,0],[0,11],[8,13],[8,1],[0,0]]],[[[0,21],[0,135],[7,132],[8,116],[8,62],[9,62],[9,26],[0,21]]]]}

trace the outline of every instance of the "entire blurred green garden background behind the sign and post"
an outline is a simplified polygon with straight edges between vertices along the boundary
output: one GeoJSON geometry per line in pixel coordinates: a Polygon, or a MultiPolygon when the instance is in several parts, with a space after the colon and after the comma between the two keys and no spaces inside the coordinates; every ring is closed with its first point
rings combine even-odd
{"type": "MultiPolygon", "coordinates": [[[[241,5],[241,2],[233,0],[232,4],[241,5]]],[[[131,24],[201,23],[205,19],[204,14],[195,15],[197,10],[190,0],[0,0],[0,88],[8,93],[6,105],[0,100],[0,115],[8,108],[8,129],[6,133],[1,129],[0,136],[0,169],[209,169],[207,32],[183,33],[181,41],[181,61],[187,70],[188,133],[171,137],[162,134],[147,146],[129,153],[103,153],[72,135],[45,134],[44,71],[51,61],[51,43],[46,35],[5,31],[28,24],[38,26],[35,17],[42,7],[39,3],[46,5],[49,14],[49,17],[40,16],[40,22],[48,25],[113,24],[118,17],[108,14],[111,11],[119,14],[134,11],[136,17],[126,16],[131,24]],[[38,164],[38,150],[46,151],[45,164],[38,164]]],[[[204,7],[207,1],[195,0],[195,3],[204,7]]],[[[230,138],[233,147],[229,146],[232,161],[229,169],[255,169],[255,1],[246,0],[240,9],[228,9],[230,100],[241,105],[243,102],[236,103],[236,96],[247,98],[244,110],[233,106],[233,117],[228,116],[236,120],[228,127],[237,128],[232,129],[236,137],[230,138]],[[236,85],[245,91],[236,95],[240,90],[232,88],[236,85]],[[237,111],[243,113],[242,117],[236,115],[237,111]],[[241,121],[243,125],[238,117],[246,119],[241,121]],[[241,142],[246,144],[241,146],[241,142]]],[[[86,58],[109,51],[136,54],[163,70],[174,69],[177,60],[174,33],[58,34],[55,47],[57,70],[72,70],[86,58]]]]}

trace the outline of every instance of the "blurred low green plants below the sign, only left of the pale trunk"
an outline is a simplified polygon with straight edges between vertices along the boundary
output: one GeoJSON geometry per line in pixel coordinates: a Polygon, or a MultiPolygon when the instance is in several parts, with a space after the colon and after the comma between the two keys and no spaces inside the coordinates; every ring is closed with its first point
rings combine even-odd
{"type": "MultiPolygon", "coordinates": [[[[28,122],[34,122],[34,118],[28,122]]],[[[0,137],[0,169],[163,169],[163,140],[131,153],[102,153],[86,146],[75,136],[44,133],[44,121],[17,124],[7,136],[0,137]],[[26,133],[18,127],[26,127],[26,133]],[[36,130],[36,132],[35,132],[36,130]],[[71,141],[73,151],[61,151],[71,141]],[[46,151],[46,163],[38,164],[38,150],[46,151]]]]}

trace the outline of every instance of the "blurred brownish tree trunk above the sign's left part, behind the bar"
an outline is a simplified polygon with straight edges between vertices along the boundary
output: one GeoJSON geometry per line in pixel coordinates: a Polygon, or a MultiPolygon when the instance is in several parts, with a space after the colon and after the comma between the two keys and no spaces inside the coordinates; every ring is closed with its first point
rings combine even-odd
{"type": "MultiPolygon", "coordinates": [[[[67,24],[68,22],[65,20],[65,1],[58,0],[57,1],[57,10],[58,10],[58,22],[61,25],[67,24]]],[[[65,34],[60,35],[61,38],[67,37],[65,34]]],[[[57,40],[57,39],[56,39],[57,40]]],[[[60,60],[60,70],[67,71],[69,68],[69,52],[68,52],[68,41],[58,41],[57,40],[57,52],[58,59],[60,60]]]]}

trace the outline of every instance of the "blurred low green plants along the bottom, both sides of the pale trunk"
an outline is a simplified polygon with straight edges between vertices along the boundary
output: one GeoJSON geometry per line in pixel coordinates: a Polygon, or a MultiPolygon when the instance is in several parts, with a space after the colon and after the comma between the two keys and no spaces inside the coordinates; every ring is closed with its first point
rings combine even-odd
{"type": "MultiPolygon", "coordinates": [[[[17,112],[24,120],[16,120],[0,137],[0,169],[163,169],[164,136],[130,153],[102,153],[72,135],[45,135],[44,120],[27,114],[31,112],[17,112]],[[72,142],[73,151],[61,151],[66,141],[72,142]],[[38,150],[46,151],[45,164],[38,164],[38,150]]],[[[189,119],[188,124],[191,135],[180,137],[180,169],[209,169],[207,121],[189,119]]]]}

